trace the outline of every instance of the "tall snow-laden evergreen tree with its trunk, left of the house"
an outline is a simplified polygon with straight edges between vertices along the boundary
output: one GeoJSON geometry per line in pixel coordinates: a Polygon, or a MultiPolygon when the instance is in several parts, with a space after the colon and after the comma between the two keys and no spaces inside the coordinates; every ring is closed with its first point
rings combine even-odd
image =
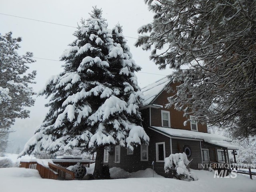
{"type": "Polygon", "coordinates": [[[102,178],[104,147],[147,143],[138,112],[143,94],[120,26],[107,28],[102,10],[82,20],[61,60],[64,72],[52,77],[40,93],[50,97],[43,124],[22,154],[79,147],[96,151],[94,178],[102,178]],[[112,32],[114,34],[112,34],[112,32]]]}

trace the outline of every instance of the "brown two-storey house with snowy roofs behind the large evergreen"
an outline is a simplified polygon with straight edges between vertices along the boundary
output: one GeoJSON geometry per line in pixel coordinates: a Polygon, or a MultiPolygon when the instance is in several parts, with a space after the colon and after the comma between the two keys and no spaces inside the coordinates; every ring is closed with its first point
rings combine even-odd
{"type": "MultiPolygon", "coordinates": [[[[171,96],[165,88],[177,84],[165,77],[142,88],[144,106],[140,108],[143,127],[150,137],[149,145],[129,148],[119,145],[109,146],[104,151],[104,164],[109,167],[120,167],[128,172],[152,168],[163,176],[164,158],[170,154],[185,152],[188,160],[192,160],[190,168],[202,169],[202,164],[210,162],[229,163],[228,150],[238,150],[229,144],[229,138],[207,133],[206,124],[193,120],[186,122],[183,112],[174,108],[165,108],[168,97],[171,96]]],[[[205,167],[207,168],[207,167],[205,167]]]]}

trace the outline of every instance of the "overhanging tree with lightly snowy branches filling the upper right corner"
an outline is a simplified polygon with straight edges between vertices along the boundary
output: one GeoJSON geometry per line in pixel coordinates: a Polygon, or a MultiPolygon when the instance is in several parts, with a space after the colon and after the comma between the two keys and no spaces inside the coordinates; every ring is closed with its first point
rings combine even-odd
{"type": "Polygon", "coordinates": [[[145,0],[155,13],[136,46],[167,65],[180,86],[170,107],[197,120],[256,134],[256,1],[145,0]]]}

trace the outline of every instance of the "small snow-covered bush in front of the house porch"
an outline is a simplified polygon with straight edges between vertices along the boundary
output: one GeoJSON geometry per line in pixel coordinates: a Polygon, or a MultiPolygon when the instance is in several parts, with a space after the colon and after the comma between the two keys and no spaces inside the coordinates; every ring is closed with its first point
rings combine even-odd
{"type": "Polygon", "coordinates": [[[164,159],[164,171],[170,173],[171,178],[194,180],[189,172],[189,163],[190,161],[184,152],[170,154],[169,157],[164,159]]]}

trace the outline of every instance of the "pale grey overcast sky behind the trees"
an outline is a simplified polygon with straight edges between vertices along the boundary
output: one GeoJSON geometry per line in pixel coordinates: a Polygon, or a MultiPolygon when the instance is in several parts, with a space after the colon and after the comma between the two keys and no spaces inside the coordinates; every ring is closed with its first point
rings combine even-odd
{"type": "MultiPolygon", "coordinates": [[[[89,17],[92,6],[102,8],[102,17],[107,20],[109,28],[113,28],[118,22],[123,26],[123,34],[128,40],[133,59],[142,67],[142,70],[136,73],[141,88],[170,74],[170,69],[158,70],[148,58],[150,52],[134,46],[138,28],[152,21],[153,14],[148,11],[144,0],[2,1],[0,33],[12,31],[13,37],[22,37],[20,54],[27,51],[34,53],[36,62],[30,64],[30,71],[37,70],[37,84],[33,85],[35,92],[44,87],[50,76],[62,71],[63,62],[58,61],[59,57],[75,39],[72,34],[77,24],[81,18],[89,17]]],[[[16,152],[18,147],[22,149],[34,134],[48,111],[44,107],[46,102],[43,97],[37,97],[34,107],[30,108],[30,118],[16,120],[12,126],[16,132],[10,134],[8,152],[16,152]]]]}

